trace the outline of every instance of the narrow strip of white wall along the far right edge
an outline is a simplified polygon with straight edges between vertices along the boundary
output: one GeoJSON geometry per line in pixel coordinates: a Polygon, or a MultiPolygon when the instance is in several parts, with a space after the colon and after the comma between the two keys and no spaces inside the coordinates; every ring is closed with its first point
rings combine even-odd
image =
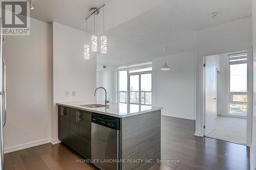
{"type": "Polygon", "coordinates": [[[250,169],[256,169],[256,1],[252,0],[252,38],[253,38],[253,116],[252,143],[250,147],[250,169]]]}

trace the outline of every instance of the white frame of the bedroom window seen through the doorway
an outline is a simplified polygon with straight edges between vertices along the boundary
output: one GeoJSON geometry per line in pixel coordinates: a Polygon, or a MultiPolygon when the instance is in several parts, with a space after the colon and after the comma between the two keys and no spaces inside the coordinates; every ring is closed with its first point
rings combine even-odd
{"type": "MultiPolygon", "coordinates": [[[[241,57],[231,57],[232,60],[243,59],[243,58],[245,58],[244,55],[241,57]]],[[[247,53],[247,51],[241,51],[241,52],[228,54],[228,115],[247,117],[247,114],[242,115],[242,114],[230,113],[230,104],[247,105],[247,112],[248,112],[248,53],[247,53]],[[230,55],[235,56],[238,54],[245,54],[245,53],[246,53],[246,60],[230,61],[230,57],[229,57],[230,55]],[[237,65],[237,64],[247,64],[247,91],[246,92],[237,92],[237,91],[231,92],[230,91],[230,65],[237,65]],[[247,95],[247,102],[234,102],[234,101],[232,101],[232,95],[247,95]]]]}

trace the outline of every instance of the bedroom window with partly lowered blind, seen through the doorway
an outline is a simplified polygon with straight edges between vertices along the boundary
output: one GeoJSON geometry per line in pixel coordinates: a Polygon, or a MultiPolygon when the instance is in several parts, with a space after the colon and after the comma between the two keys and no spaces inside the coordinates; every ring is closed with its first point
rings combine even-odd
{"type": "Polygon", "coordinates": [[[247,115],[247,53],[229,54],[229,114],[247,115]]]}

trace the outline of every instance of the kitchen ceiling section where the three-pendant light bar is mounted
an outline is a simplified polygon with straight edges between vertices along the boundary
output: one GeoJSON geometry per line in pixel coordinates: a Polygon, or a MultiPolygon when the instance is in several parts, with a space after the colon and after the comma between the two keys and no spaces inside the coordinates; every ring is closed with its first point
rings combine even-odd
{"type": "MultiPolygon", "coordinates": [[[[120,23],[130,20],[143,12],[150,10],[164,0],[33,0],[35,7],[30,15],[41,21],[56,21],[63,25],[86,31],[86,20],[84,18],[90,14],[90,9],[99,7],[105,3],[105,31],[112,29],[120,23]]],[[[93,33],[93,16],[88,21],[88,32],[93,33]]],[[[102,31],[102,12],[96,15],[96,27],[102,31]]],[[[97,31],[97,29],[96,29],[97,31]]],[[[100,34],[99,32],[98,34],[100,34]]]]}

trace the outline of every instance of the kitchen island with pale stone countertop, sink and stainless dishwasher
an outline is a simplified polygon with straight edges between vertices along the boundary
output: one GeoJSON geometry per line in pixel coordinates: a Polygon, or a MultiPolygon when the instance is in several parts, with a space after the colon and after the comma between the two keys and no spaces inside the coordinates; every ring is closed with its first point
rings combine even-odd
{"type": "Polygon", "coordinates": [[[161,107],[98,107],[105,103],[95,101],[57,105],[59,139],[97,167],[148,169],[161,159],[161,107]]]}

